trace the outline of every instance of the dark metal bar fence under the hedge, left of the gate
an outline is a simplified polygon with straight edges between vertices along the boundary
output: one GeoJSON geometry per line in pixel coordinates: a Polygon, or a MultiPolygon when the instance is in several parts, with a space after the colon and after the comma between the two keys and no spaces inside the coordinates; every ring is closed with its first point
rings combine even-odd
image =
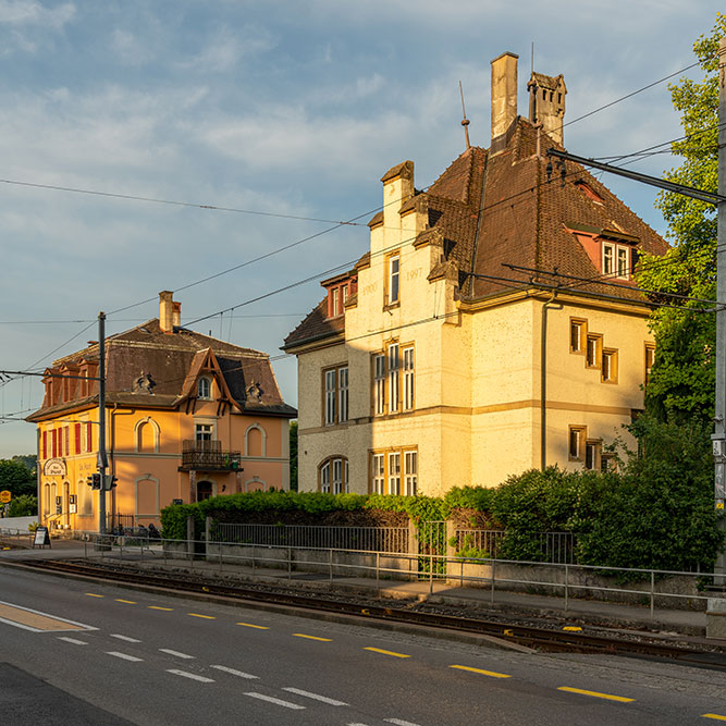
{"type": "Polygon", "coordinates": [[[316,527],[308,525],[232,525],[214,522],[208,539],[234,544],[332,547],[407,553],[407,527],[316,527]]]}

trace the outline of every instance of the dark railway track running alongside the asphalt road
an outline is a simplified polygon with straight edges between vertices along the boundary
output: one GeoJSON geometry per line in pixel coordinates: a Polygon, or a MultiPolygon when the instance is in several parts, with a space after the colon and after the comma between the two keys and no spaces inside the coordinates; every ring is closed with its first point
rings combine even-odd
{"type": "Polygon", "coordinates": [[[494,637],[546,652],[605,653],[647,659],[663,659],[686,665],[707,667],[726,672],[726,652],[706,651],[684,645],[653,642],[650,639],[623,638],[580,631],[553,630],[518,623],[505,624],[478,618],[464,618],[438,613],[401,607],[381,606],[374,603],[346,602],[325,599],[320,594],[308,595],[273,589],[255,589],[244,586],[221,585],[212,580],[190,580],[163,573],[149,573],[119,567],[98,567],[69,561],[19,561],[26,567],[51,570],[67,575],[82,575],[118,582],[164,588],[170,591],[205,595],[218,595],[241,603],[268,603],[306,611],[362,616],[367,619],[424,626],[439,630],[494,637]]]}

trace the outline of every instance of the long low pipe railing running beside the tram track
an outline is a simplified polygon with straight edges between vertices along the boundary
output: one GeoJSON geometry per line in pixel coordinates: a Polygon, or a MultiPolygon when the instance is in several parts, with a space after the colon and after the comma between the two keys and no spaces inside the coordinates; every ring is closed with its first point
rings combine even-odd
{"type": "MultiPolygon", "coordinates": [[[[324,574],[332,585],[337,578],[342,581],[350,577],[376,578],[376,589],[381,590],[381,580],[408,580],[420,583],[416,561],[420,554],[390,553],[370,550],[342,550],[336,547],[296,547],[293,545],[256,545],[247,543],[230,543],[205,540],[151,540],[139,537],[114,537],[86,534],[84,556],[94,557],[132,557],[145,559],[152,557],[155,562],[170,563],[176,568],[180,559],[189,566],[208,571],[251,568],[253,574],[266,569],[286,570],[290,579],[293,571],[324,574]]],[[[688,601],[700,603],[704,608],[705,601],[716,596],[705,588],[716,586],[724,588],[724,575],[715,573],[685,573],[677,570],[633,569],[625,567],[602,567],[593,565],[570,565],[541,562],[520,562],[513,559],[489,559],[472,557],[448,557],[435,554],[424,555],[429,559],[428,581],[429,593],[434,588],[450,590],[452,586],[477,587],[488,590],[490,602],[494,603],[497,591],[518,591],[531,593],[532,590],[544,590],[550,596],[563,599],[563,607],[569,610],[570,600],[578,595],[589,600],[603,600],[617,604],[641,604],[650,607],[650,617],[654,619],[656,603],[663,607],[666,601],[688,601]],[[522,567],[522,565],[525,567],[522,567]],[[447,583],[440,586],[435,580],[435,571],[448,571],[447,583]],[[526,571],[527,577],[521,577],[526,571]],[[578,578],[578,573],[579,578],[578,578]],[[517,577],[517,575],[520,575],[517,577]],[[607,582],[604,575],[619,578],[639,577],[633,585],[607,582]],[[689,582],[680,590],[677,583],[667,578],[686,578],[689,582]],[[514,586],[514,587],[513,587],[514,586]],[[684,590],[688,590],[685,592],[684,590]],[[613,596],[620,600],[613,601],[613,596]],[[635,600],[635,602],[633,602],[635,600]],[[627,602],[626,602],[627,601],[627,602]]],[[[718,596],[724,596],[723,594],[718,596]]]]}

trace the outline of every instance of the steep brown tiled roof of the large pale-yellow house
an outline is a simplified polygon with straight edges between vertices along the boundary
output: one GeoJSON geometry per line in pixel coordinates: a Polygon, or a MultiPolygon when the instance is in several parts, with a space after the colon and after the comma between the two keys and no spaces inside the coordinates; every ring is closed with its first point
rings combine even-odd
{"type": "MultiPolygon", "coordinates": [[[[559,76],[538,76],[543,84],[556,84],[559,76]]],[[[571,225],[594,230],[617,231],[626,238],[635,237],[641,250],[662,255],[666,242],[649,227],[612,192],[585,168],[566,163],[567,183],[561,184],[558,173],[547,183],[547,157],[551,146],[559,147],[546,134],[540,137],[541,155],[537,156],[538,132],[532,123],[518,116],[496,149],[471,147],[457,157],[429,187],[402,205],[401,212],[417,205],[428,209],[429,230],[418,242],[440,234],[446,262],[432,272],[442,274],[451,264],[458,267],[462,294],[479,298],[530,284],[532,274],[516,272],[507,264],[542,271],[540,282],[556,279],[544,272],[596,280],[600,271],[574,234],[571,225]],[[578,187],[585,183],[600,200],[578,187]],[[482,194],[483,192],[483,194],[482,194]],[[473,278],[471,273],[479,275],[473,278]]],[[[392,168],[383,179],[405,172],[408,162],[392,168]]],[[[556,164],[555,164],[555,169],[556,164]]],[[[382,221],[379,212],[369,225],[382,221]]],[[[369,254],[358,262],[365,264],[369,254]]],[[[431,276],[431,275],[430,275],[431,276]]],[[[567,283],[567,280],[559,280],[567,283]]],[[[642,299],[626,286],[579,283],[577,291],[642,299]]],[[[325,300],[285,339],[285,348],[340,333],[344,318],[325,319],[325,300]]]]}

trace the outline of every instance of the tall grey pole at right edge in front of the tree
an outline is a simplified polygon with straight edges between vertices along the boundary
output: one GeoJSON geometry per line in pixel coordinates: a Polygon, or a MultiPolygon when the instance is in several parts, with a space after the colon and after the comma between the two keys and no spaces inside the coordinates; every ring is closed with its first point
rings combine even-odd
{"type": "MultiPolygon", "coordinates": [[[[718,45],[718,194],[726,196],[726,37],[718,45]]],[[[718,204],[718,239],[716,247],[716,300],[726,302],[726,204],[718,204]]],[[[724,513],[726,500],[726,309],[716,308],[716,409],[713,457],[715,466],[714,500],[716,510],[724,513]]],[[[722,519],[722,530],[726,522],[722,519]]],[[[726,573],[726,557],[722,549],[716,558],[715,573],[726,573]]],[[[723,580],[722,580],[723,583],[723,580]]]]}

